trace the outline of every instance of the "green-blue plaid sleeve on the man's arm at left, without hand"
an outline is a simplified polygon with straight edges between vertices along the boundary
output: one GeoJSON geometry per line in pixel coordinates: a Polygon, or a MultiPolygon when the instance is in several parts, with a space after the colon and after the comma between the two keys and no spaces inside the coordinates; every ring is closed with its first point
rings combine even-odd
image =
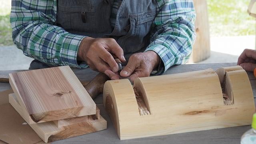
{"type": "Polygon", "coordinates": [[[14,44],[26,56],[53,66],[87,67],[77,62],[78,48],[85,36],[55,26],[56,16],[57,0],[12,0],[10,23],[14,44]]]}

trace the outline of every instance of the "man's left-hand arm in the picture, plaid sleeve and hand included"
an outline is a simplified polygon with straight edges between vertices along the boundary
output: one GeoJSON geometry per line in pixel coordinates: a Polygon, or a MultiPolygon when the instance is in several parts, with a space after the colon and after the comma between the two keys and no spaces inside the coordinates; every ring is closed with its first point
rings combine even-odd
{"type": "Polygon", "coordinates": [[[12,0],[10,22],[14,44],[26,56],[46,64],[76,68],[89,65],[100,72],[118,71],[110,53],[116,54],[122,62],[125,59],[114,39],[70,34],[55,26],[56,17],[57,0],[12,0]]]}

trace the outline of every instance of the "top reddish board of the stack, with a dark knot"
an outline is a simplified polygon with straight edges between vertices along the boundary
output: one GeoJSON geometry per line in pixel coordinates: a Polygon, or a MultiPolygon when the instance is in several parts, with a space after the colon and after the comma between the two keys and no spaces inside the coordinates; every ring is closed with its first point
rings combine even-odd
{"type": "Polygon", "coordinates": [[[10,85],[35,123],[96,114],[96,104],[69,66],[12,73],[10,85]]]}

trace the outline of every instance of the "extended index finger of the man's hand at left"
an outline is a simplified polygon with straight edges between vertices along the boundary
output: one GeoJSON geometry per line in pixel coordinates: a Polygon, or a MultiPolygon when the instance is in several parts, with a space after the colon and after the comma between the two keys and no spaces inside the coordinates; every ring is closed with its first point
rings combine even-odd
{"type": "Polygon", "coordinates": [[[125,62],[126,61],[125,58],[124,58],[124,51],[118,45],[116,40],[114,40],[113,38],[109,38],[108,47],[109,47],[110,52],[115,54],[119,58],[119,60],[121,60],[121,62],[125,62]]]}

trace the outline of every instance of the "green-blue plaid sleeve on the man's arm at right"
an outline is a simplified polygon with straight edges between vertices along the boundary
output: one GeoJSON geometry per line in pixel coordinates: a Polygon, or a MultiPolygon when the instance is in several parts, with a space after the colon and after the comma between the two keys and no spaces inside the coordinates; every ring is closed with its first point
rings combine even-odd
{"type": "Polygon", "coordinates": [[[145,51],[156,52],[161,62],[158,72],[164,73],[175,64],[188,61],[195,40],[195,10],[192,0],[157,0],[150,44],[145,51]]]}

